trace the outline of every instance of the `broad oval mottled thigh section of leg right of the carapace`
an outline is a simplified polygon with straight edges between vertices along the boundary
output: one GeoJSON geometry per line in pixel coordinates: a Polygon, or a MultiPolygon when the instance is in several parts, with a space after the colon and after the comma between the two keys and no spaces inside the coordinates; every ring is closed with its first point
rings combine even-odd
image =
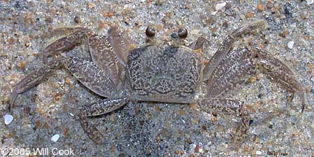
{"type": "Polygon", "coordinates": [[[248,49],[239,49],[221,61],[207,82],[207,98],[221,98],[238,89],[255,73],[255,63],[248,49]]]}

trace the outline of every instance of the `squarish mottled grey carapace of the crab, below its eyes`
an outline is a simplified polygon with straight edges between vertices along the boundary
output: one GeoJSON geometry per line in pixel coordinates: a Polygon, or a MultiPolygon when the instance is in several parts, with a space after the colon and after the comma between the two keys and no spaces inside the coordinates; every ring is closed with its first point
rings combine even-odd
{"type": "Polygon", "coordinates": [[[202,66],[188,47],[147,45],[128,55],[130,88],[137,100],[192,103],[202,66]]]}

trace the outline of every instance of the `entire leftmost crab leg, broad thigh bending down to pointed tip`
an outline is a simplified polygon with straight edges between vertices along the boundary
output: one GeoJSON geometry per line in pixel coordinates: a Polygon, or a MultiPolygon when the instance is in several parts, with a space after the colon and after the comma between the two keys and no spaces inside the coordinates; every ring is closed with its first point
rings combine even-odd
{"type": "Polygon", "coordinates": [[[59,68],[62,64],[66,64],[66,68],[70,70],[70,73],[72,73],[77,80],[82,82],[85,87],[94,91],[96,94],[105,97],[112,97],[113,93],[116,91],[116,87],[111,82],[109,77],[107,77],[103,70],[98,68],[94,63],[78,57],[59,59],[54,61],[54,64],[38,68],[24,77],[24,79],[17,84],[13,91],[10,104],[8,105],[8,110],[10,110],[11,106],[13,106],[18,94],[22,94],[24,91],[27,91],[28,89],[31,89],[43,82],[45,78],[52,75],[54,70],[59,68]]]}

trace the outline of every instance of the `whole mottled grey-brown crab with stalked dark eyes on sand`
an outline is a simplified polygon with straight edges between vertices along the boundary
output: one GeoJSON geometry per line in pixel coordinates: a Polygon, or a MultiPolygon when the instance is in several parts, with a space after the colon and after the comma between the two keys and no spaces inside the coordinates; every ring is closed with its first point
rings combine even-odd
{"type": "Polygon", "coordinates": [[[130,100],[165,103],[198,103],[205,112],[217,112],[241,119],[236,128],[234,143],[241,144],[249,128],[246,107],[239,100],[225,98],[229,91],[237,89],[259,68],[292,93],[301,94],[302,111],[305,105],[304,89],[297,82],[290,68],[258,47],[232,50],[237,38],[267,24],[256,22],[230,33],[209,61],[204,59],[205,38],[197,38],[185,45],[186,29],[172,33],[172,41],[156,44],[154,27],[147,27],[147,45],[130,46],[126,36],[110,27],[108,35],[99,36],[83,27],[54,29],[54,33],[67,34],[55,40],[43,50],[45,66],[33,70],[21,80],[13,92],[8,110],[18,94],[43,82],[62,65],[77,80],[99,96],[96,103],[84,105],[80,110],[80,123],[94,142],[124,142],[103,140],[96,126],[88,117],[106,114],[126,105],[130,100]],[[66,52],[87,40],[92,61],[79,57],[49,59],[59,52],[66,52]],[[206,84],[206,87],[202,86],[206,84]]]}

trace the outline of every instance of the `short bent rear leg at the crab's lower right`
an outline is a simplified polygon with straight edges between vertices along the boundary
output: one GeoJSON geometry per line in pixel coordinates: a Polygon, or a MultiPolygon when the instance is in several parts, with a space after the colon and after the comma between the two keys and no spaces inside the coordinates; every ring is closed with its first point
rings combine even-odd
{"type": "Polygon", "coordinates": [[[237,125],[236,133],[233,141],[236,145],[240,146],[247,137],[248,128],[250,126],[250,117],[246,108],[239,100],[231,99],[201,99],[198,100],[201,110],[205,112],[217,112],[218,114],[225,114],[234,117],[240,117],[241,122],[237,125]]]}

